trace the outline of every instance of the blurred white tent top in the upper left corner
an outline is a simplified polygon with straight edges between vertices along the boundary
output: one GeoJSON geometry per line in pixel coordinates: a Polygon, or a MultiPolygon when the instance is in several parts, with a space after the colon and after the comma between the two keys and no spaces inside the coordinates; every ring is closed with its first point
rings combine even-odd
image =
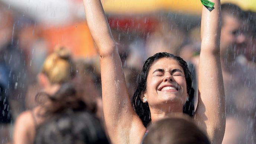
{"type": "Polygon", "coordinates": [[[69,22],[72,14],[72,0],[0,0],[9,9],[14,9],[23,17],[37,22],[58,25],[69,22]]]}

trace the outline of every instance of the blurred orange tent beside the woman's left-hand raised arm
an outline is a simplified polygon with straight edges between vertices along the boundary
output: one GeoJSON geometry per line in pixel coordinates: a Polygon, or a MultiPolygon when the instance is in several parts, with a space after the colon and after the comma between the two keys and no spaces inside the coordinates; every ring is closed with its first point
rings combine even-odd
{"type": "Polygon", "coordinates": [[[49,53],[56,47],[63,46],[76,58],[89,58],[98,54],[86,22],[76,22],[58,28],[49,27],[42,31],[42,36],[48,41],[49,53]]]}

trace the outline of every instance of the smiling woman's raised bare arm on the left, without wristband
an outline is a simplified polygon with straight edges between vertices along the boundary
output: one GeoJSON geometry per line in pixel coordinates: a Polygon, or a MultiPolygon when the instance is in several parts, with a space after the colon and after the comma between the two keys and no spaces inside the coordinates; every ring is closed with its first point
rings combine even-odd
{"type": "Polygon", "coordinates": [[[121,59],[102,4],[100,0],[83,2],[87,24],[100,54],[103,112],[109,137],[112,143],[140,143],[145,128],[132,109],[121,59]]]}

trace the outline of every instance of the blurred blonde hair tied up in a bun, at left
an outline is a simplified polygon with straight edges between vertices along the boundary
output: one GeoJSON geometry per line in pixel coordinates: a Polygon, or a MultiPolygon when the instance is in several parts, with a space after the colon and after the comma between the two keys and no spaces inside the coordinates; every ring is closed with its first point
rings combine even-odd
{"type": "Polygon", "coordinates": [[[41,73],[44,73],[52,84],[63,84],[71,80],[75,76],[75,70],[70,51],[64,47],[57,48],[45,59],[41,73]]]}

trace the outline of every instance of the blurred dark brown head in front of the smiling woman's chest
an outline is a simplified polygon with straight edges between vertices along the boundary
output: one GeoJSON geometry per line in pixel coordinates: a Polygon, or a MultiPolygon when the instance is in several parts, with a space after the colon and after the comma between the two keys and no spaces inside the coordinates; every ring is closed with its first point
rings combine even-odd
{"type": "Polygon", "coordinates": [[[148,128],[143,144],[210,144],[207,135],[189,118],[161,119],[148,128]]]}

